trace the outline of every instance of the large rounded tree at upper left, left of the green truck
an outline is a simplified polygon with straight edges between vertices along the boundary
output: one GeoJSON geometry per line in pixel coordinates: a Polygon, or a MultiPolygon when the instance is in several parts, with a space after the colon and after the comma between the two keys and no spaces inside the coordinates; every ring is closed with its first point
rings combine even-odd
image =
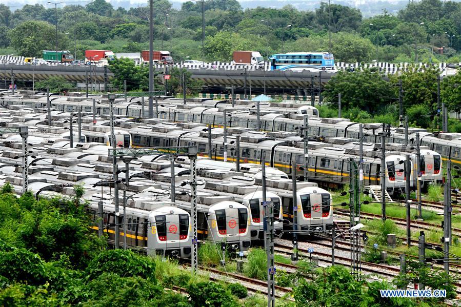
{"type": "MultiPolygon", "coordinates": [[[[54,50],[54,26],[47,22],[24,22],[8,32],[8,37],[19,55],[42,56],[42,51],[54,50]]],[[[67,38],[58,33],[58,48],[65,46],[67,38]]]]}

